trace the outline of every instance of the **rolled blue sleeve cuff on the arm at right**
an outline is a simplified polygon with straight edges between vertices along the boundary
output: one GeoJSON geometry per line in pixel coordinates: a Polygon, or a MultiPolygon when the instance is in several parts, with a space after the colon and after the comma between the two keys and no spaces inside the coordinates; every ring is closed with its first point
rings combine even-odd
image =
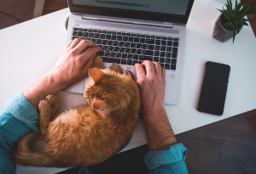
{"type": "Polygon", "coordinates": [[[154,174],[188,174],[185,164],[188,149],[183,143],[177,143],[164,150],[149,151],[145,155],[145,163],[150,173],[154,174]]]}

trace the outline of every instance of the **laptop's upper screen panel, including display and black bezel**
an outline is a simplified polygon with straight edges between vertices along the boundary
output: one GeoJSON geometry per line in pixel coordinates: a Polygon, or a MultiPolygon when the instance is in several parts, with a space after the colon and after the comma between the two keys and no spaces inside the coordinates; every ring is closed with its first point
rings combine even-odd
{"type": "Polygon", "coordinates": [[[72,13],[186,24],[195,0],[68,0],[72,13]]]}

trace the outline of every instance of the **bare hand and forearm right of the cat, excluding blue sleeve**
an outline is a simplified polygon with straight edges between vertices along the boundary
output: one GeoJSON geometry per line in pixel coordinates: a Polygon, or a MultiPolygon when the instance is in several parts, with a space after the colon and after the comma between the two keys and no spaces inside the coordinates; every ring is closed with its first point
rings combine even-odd
{"type": "MultiPolygon", "coordinates": [[[[137,84],[143,104],[143,117],[150,150],[163,150],[177,143],[164,107],[166,70],[156,62],[136,64],[137,84]]],[[[126,70],[128,76],[131,72],[126,70]]],[[[132,76],[131,76],[132,78],[132,76]]]]}

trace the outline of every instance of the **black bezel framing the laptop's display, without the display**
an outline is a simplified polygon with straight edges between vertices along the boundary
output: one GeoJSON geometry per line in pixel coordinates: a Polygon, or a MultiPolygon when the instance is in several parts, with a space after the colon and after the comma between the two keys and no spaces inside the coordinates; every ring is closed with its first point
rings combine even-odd
{"type": "Polygon", "coordinates": [[[73,4],[73,0],[67,0],[71,13],[78,14],[94,14],[111,17],[119,17],[135,20],[154,20],[159,22],[170,22],[174,24],[186,25],[189,19],[189,14],[195,0],[189,0],[189,5],[185,15],[181,14],[163,14],[156,12],[147,12],[139,10],[131,10],[124,8],[105,8],[89,5],[73,4]]]}

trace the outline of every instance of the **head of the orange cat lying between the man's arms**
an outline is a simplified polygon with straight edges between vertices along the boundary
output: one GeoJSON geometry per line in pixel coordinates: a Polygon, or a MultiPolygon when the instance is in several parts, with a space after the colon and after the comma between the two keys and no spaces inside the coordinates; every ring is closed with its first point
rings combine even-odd
{"type": "Polygon", "coordinates": [[[137,92],[136,82],[129,76],[120,75],[111,70],[89,70],[91,78],[84,96],[94,109],[109,113],[112,110],[126,108],[131,102],[132,93],[137,92]]]}

